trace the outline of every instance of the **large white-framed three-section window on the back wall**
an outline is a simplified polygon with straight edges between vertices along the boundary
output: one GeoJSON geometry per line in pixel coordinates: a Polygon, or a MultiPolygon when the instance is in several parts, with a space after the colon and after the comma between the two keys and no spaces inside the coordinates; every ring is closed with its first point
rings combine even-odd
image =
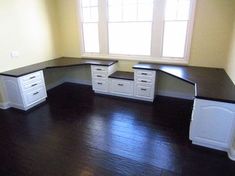
{"type": "Polygon", "coordinates": [[[82,55],[186,62],[196,0],[81,0],[82,55]]]}

